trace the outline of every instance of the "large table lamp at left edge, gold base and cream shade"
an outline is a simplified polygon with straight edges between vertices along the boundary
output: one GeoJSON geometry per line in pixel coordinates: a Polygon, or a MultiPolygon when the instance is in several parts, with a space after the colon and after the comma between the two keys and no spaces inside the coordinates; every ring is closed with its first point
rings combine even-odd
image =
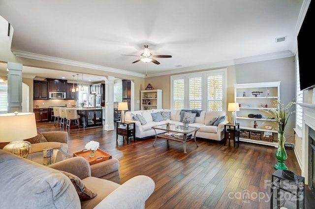
{"type": "Polygon", "coordinates": [[[0,142],[10,142],[3,150],[27,158],[31,152],[31,143],[23,141],[37,136],[34,113],[0,114],[0,142]]]}

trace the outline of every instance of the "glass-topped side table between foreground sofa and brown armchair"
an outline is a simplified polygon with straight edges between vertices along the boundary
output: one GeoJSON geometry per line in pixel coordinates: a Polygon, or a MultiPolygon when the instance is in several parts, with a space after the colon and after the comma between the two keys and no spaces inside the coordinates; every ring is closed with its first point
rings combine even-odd
{"type": "Polygon", "coordinates": [[[71,158],[72,156],[64,151],[63,149],[53,149],[51,157],[44,157],[44,151],[35,152],[29,154],[28,159],[41,165],[51,165],[65,159],[71,158]]]}

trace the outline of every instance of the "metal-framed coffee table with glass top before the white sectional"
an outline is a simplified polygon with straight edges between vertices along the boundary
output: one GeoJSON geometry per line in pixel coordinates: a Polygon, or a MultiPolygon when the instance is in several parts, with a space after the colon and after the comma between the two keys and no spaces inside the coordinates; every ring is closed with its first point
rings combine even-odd
{"type": "Polygon", "coordinates": [[[173,140],[173,141],[177,141],[177,142],[182,142],[183,143],[183,148],[184,148],[184,153],[187,154],[187,151],[186,151],[186,142],[194,139],[197,147],[198,144],[196,142],[196,133],[197,131],[199,130],[199,128],[197,127],[188,127],[188,129],[183,129],[183,126],[180,126],[180,128],[178,130],[175,129],[175,125],[172,125],[172,124],[169,124],[168,128],[166,126],[166,124],[163,124],[163,125],[155,125],[155,126],[152,126],[152,128],[154,129],[154,131],[156,132],[156,139],[154,140],[154,143],[152,146],[154,146],[154,144],[156,143],[157,141],[157,138],[163,138],[163,139],[166,139],[167,142],[168,140],[173,140]],[[164,135],[164,133],[161,133],[161,134],[157,134],[157,130],[163,130],[165,132],[174,132],[174,133],[181,133],[183,134],[183,139],[180,139],[180,138],[176,138],[174,136],[166,136],[164,135]],[[194,132],[193,136],[191,136],[191,138],[189,139],[186,139],[187,138],[187,135],[189,133],[192,133],[194,132]]]}

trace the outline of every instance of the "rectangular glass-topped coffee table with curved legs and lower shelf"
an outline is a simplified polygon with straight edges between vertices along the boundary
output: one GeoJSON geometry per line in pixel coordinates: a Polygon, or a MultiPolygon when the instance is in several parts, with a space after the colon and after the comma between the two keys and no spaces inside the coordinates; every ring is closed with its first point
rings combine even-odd
{"type": "MultiPolygon", "coordinates": [[[[184,129],[183,126],[172,125],[172,124],[169,124],[167,126],[166,124],[163,124],[163,125],[152,126],[152,128],[156,132],[156,139],[154,140],[154,143],[156,143],[158,137],[166,139],[167,142],[168,142],[168,140],[182,142],[185,154],[187,154],[186,142],[194,139],[194,141],[197,145],[196,133],[199,130],[199,128],[197,128],[197,127],[188,127],[188,129],[184,129]],[[165,131],[165,133],[157,134],[157,130],[163,130],[163,131],[165,131]]],[[[152,146],[154,146],[154,143],[152,146]]],[[[198,145],[197,145],[197,147],[198,147],[198,145]]]]}

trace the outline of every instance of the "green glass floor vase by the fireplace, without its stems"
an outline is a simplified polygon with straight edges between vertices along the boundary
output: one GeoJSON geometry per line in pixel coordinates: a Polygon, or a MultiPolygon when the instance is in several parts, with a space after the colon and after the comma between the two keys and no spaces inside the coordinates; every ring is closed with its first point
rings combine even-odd
{"type": "Polygon", "coordinates": [[[284,161],[287,159],[287,154],[284,148],[284,137],[285,131],[278,131],[278,149],[276,151],[276,158],[278,162],[274,166],[275,169],[287,170],[287,167],[284,165],[284,161]]]}

